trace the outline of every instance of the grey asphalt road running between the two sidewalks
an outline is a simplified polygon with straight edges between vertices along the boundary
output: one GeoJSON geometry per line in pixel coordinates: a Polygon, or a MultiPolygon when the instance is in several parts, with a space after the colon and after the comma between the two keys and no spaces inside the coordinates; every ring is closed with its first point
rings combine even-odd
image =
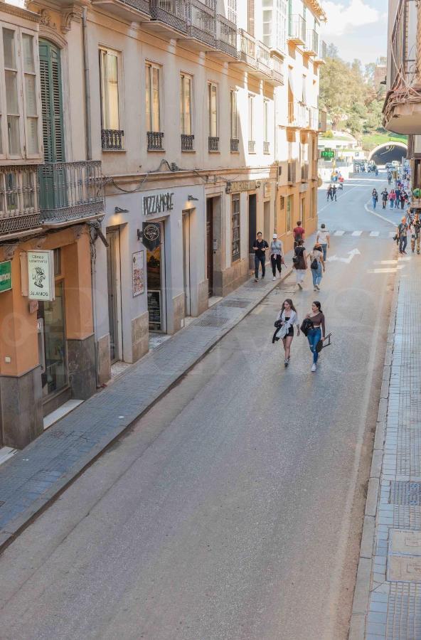
{"type": "Polygon", "coordinates": [[[396,269],[372,185],[320,192],[364,233],[332,240],[316,373],[271,343],[315,297],[289,277],[6,549],[1,640],[346,638],[396,269]]]}

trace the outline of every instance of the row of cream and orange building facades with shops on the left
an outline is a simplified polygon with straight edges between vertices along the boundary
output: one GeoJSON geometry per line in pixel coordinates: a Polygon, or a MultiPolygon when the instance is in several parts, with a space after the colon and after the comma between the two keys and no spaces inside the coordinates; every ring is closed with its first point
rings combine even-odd
{"type": "Polygon", "coordinates": [[[112,363],[141,358],[151,332],[174,334],[245,282],[257,230],[285,250],[297,220],[315,230],[326,16],[316,0],[2,7],[20,68],[5,26],[0,444],[22,447],[112,363]],[[28,288],[35,251],[48,302],[28,288]]]}

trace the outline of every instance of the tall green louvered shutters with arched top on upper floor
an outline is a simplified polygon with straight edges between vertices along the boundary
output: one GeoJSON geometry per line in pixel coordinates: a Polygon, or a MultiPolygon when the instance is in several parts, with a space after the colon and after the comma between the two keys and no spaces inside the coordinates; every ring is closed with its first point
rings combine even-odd
{"type": "Polygon", "coordinates": [[[39,51],[44,161],[64,162],[60,50],[52,43],[40,40],[39,51]]]}

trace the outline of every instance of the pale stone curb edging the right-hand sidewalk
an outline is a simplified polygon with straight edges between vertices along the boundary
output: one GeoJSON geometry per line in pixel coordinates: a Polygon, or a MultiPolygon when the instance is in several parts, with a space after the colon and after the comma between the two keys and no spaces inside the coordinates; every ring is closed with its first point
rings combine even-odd
{"type": "MultiPolygon", "coordinates": [[[[370,213],[373,213],[373,211],[370,213]]],[[[395,334],[395,319],[398,308],[399,288],[400,279],[399,276],[397,276],[390,309],[388,341],[386,343],[383,378],[380,400],[378,402],[373,457],[371,459],[370,479],[368,480],[366,510],[364,513],[363,532],[361,535],[356,585],[353,592],[353,606],[348,640],[366,639],[366,617],[368,614],[368,604],[370,601],[371,591],[371,567],[375,555],[375,519],[377,517],[378,503],[380,499],[380,476],[383,463],[383,447],[385,443],[386,417],[388,413],[390,368],[393,356],[393,336],[395,334]]]]}

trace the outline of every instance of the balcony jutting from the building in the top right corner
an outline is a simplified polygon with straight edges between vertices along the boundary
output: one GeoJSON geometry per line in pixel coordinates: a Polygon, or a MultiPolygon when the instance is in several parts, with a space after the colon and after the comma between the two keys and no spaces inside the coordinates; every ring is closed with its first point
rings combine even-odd
{"type": "Polygon", "coordinates": [[[401,0],[391,34],[388,93],[383,126],[398,134],[421,134],[421,46],[417,38],[421,7],[401,0]]]}

